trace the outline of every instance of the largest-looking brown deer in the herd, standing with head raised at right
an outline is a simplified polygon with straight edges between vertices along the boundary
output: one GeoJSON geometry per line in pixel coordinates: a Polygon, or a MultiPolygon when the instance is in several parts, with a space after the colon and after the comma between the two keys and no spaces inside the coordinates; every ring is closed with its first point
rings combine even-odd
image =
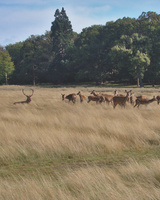
{"type": "Polygon", "coordinates": [[[128,100],[128,97],[129,97],[129,94],[131,93],[132,90],[130,91],[127,91],[125,90],[126,92],[126,96],[114,96],[113,97],[113,108],[115,108],[118,104],[121,106],[121,107],[124,107],[126,106],[126,102],[128,100]]]}

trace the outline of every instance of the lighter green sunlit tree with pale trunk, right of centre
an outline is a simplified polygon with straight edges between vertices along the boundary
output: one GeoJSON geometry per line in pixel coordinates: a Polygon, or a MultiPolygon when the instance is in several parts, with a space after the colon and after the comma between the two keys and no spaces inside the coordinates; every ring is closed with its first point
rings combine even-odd
{"type": "MultiPolygon", "coordinates": [[[[111,51],[112,59],[119,58],[119,67],[125,68],[137,79],[137,86],[143,87],[143,76],[146,68],[150,64],[150,58],[147,54],[148,40],[147,37],[134,33],[130,36],[122,35],[118,41],[118,45],[114,46],[111,51]]],[[[116,60],[117,62],[117,60],[116,60]]]]}

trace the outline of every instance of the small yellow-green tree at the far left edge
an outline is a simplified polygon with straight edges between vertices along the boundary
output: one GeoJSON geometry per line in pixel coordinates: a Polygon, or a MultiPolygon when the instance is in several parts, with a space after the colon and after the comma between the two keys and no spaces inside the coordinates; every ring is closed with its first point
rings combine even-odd
{"type": "Polygon", "coordinates": [[[0,49],[0,81],[5,81],[5,73],[10,78],[14,71],[14,64],[7,50],[0,49]]]}

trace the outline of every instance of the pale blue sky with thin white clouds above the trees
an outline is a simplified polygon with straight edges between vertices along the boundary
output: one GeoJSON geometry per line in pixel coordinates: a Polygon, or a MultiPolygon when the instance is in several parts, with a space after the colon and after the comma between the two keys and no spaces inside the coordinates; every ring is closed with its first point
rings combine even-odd
{"type": "Polygon", "coordinates": [[[142,12],[160,14],[159,0],[0,0],[0,46],[50,31],[56,9],[64,7],[73,31],[105,25],[142,12]]]}

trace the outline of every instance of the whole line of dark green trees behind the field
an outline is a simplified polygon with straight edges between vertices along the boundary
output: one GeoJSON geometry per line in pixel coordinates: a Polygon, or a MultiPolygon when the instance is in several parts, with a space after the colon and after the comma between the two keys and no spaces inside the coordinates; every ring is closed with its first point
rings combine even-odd
{"type": "Polygon", "coordinates": [[[51,30],[0,48],[0,82],[10,84],[160,83],[160,15],[142,12],[72,29],[64,8],[51,30]]]}

